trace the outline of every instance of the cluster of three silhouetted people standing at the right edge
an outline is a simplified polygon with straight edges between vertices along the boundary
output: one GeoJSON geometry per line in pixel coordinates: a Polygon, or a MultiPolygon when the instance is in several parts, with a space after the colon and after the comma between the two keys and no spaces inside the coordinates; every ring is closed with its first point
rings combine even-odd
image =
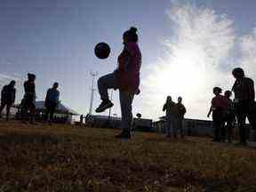
{"type": "Polygon", "coordinates": [[[232,74],[236,81],[231,91],[226,91],[222,95],[220,87],[213,88],[215,97],[212,98],[212,105],[207,116],[209,117],[212,114],[213,141],[225,142],[228,135],[228,142],[231,142],[232,130],[237,123],[240,138],[239,144],[246,145],[246,117],[252,129],[256,129],[254,83],[251,78],[244,76],[242,68],[235,68],[232,74]],[[235,93],[234,100],[230,99],[232,92],[235,93]]]}

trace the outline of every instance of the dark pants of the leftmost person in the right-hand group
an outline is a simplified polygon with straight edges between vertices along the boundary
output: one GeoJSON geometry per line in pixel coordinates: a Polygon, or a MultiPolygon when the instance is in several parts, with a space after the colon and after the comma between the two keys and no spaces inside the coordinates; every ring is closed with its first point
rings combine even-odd
{"type": "Polygon", "coordinates": [[[226,137],[226,131],[224,127],[225,121],[223,119],[223,111],[221,109],[213,110],[212,121],[213,121],[213,129],[214,129],[213,140],[216,140],[216,141],[225,140],[225,137],[226,137]]]}

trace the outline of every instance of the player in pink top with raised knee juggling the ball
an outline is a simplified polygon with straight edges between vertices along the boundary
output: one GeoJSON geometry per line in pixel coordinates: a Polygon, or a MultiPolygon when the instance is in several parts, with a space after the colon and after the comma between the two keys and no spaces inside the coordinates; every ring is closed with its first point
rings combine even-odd
{"type": "Polygon", "coordinates": [[[119,89],[123,131],[116,135],[116,138],[131,138],[132,100],[135,94],[140,93],[141,53],[137,43],[137,28],[130,28],[124,32],[124,50],[118,56],[118,67],[114,73],[101,76],[98,80],[102,102],[96,109],[97,113],[113,107],[113,103],[108,99],[108,89],[119,89]]]}

